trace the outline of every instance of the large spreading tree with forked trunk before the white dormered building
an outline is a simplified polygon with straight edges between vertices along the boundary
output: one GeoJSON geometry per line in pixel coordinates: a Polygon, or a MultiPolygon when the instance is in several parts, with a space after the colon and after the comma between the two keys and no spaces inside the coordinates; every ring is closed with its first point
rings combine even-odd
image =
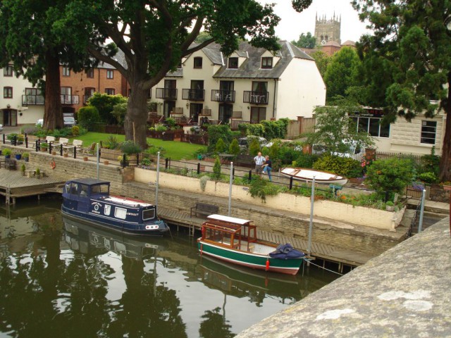
{"type": "MultiPolygon", "coordinates": [[[[307,1],[293,1],[302,10],[307,1]]],[[[212,42],[221,44],[225,55],[238,47],[239,39],[250,44],[278,49],[274,27],[279,18],[273,5],[255,0],[74,0],[70,1],[65,27],[81,42],[89,33],[85,48],[92,56],[113,65],[130,84],[131,94],[125,116],[126,139],[146,145],[147,93],[180,60],[212,42]],[[211,38],[193,44],[201,30],[211,38]],[[114,57],[111,45],[94,40],[109,37],[123,51],[125,64],[114,57]]]]}

